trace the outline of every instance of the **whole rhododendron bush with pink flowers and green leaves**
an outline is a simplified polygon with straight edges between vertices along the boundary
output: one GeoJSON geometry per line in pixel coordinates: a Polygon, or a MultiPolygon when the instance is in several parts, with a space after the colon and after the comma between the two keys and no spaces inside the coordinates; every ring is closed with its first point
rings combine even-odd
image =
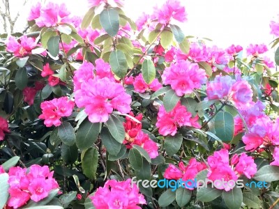
{"type": "Polygon", "coordinates": [[[0,208],[278,208],[279,38],[209,46],[179,1],[123,6],[37,3],[1,35],[0,208]]]}

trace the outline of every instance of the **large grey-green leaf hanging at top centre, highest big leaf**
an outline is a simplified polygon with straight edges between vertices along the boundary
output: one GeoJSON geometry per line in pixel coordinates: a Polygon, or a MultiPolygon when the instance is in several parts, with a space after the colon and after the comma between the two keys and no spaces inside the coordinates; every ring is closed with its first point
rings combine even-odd
{"type": "Polygon", "coordinates": [[[110,36],[116,36],[119,31],[119,13],[114,8],[105,8],[100,13],[100,24],[110,36]]]}

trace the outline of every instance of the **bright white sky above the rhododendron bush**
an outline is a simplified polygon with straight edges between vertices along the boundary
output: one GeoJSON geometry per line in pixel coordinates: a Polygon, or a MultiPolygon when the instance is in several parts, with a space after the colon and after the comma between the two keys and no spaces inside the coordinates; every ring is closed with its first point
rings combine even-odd
{"type": "MultiPolygon", "coordinates": [[[[29,6],[18,8],[22,0],[10,0],[15,10],[21,10],[27,17],[29,6]]],[[[36,3],[38,0],[29,0],[36,3]]],[[[56,0],[65,2],[75,15],[84,15],[88,10],[87,0],[56,0]]],[[[160,6],[165,0],[125,0],[128,17],[134,20],[142,12],[152,13],[153,6],[160,6]]],[[[269,29],[271,20],[278,21],[279,1],[271,0],[181,0],[188,13],[188,21],[181,25],[187,36],[211,38],[218,47],[250,43],[269,45],[273,40],[269,29]]],[[[18,27],[24,24],[20,23],[18,27]]]]}

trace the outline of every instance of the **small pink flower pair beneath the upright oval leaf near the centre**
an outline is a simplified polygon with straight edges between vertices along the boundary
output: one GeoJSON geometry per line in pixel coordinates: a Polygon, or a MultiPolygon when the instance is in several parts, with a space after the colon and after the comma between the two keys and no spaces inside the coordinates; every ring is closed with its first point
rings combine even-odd
{"type": "Polygon", "coordinates": [[[135,77],[133,84],[134,84],[135,92],[138,93],[144,93],[145,91],[149,91],[149,90],[157,91],[158,89],[163,87],[162,84],[160,84],[160,82],[158,81],[158,79],[153,79],[153,82],[151,82],[151,84],[146,84],[144,78],[142,77],[142,73],[140,73],[140,75],[135,77]]]}

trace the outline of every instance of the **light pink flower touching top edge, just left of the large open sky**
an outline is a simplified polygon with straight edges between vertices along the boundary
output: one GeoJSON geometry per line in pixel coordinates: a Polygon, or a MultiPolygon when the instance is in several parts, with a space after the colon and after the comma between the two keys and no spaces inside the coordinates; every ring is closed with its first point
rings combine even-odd
{"type": "Polygon", "coordinates": [[[185,8],[177,0],[167,0],[160,8],[154,8],[154,16],[161,24],[169,24],[172,18],[179,22],[187,20],[185,8]]]}

